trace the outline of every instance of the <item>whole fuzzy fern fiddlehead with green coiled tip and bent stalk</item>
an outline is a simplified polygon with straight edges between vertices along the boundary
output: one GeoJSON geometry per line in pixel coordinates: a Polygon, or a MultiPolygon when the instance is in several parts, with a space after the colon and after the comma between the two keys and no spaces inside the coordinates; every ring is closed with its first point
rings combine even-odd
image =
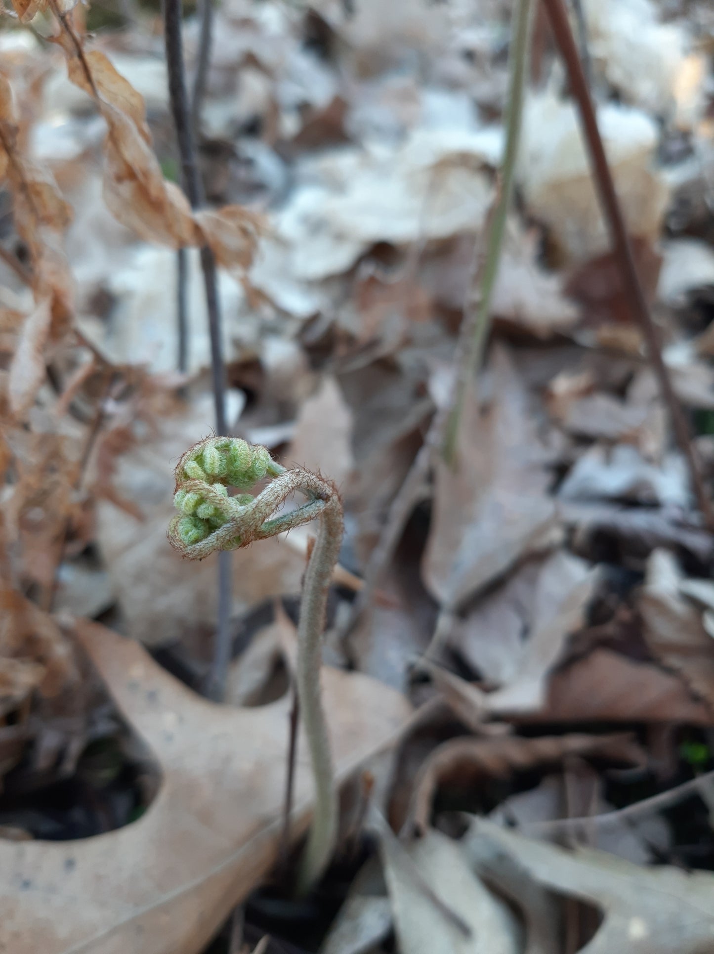
{"type": "Polygon", "coordinates": [[[337,838],[337,789],[319,672],[327,593],[342,541],[342,504],[331,481],[309,470],[280,467],[266,447],[234,437],[212,437],[191,447],[178,462],[175,477],[173,503],[179,513],[169,525],[169,539],[191,560],[202,560],[214,550],[247,547],[319,520],[297,627],[297,695],[316,788],[315,817],[297,876],[298,889],[304,892],[324,872],[337,838]],[[272,479],[257,496],[247,492],[265,477],[272,479]],[[229,487],[239,492],[231,497],[229,487]],[[278,514],[298,491],[307,502],[278,514]]]}

